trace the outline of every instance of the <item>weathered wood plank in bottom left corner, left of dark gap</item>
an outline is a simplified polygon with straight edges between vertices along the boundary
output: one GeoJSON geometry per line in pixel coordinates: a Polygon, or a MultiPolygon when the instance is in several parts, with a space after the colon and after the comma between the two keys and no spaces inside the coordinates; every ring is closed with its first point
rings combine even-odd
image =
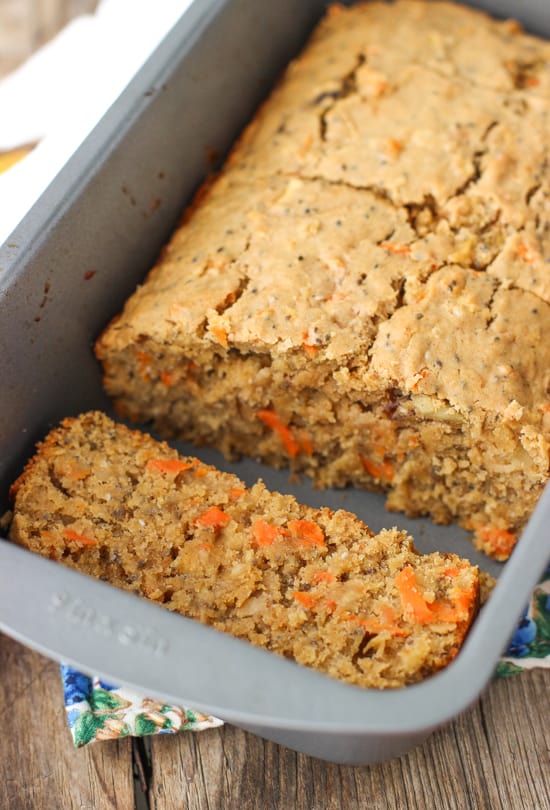
{"type": "Polygon", "coordinates": [[[130,810],[130,740],[75,750],[57,664],[0,635],[2,810],[130,810]]]}

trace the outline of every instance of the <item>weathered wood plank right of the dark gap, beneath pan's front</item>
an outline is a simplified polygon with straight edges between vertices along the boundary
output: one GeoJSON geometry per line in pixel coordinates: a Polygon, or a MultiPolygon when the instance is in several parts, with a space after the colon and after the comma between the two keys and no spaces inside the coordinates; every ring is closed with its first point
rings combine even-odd
{"type": "Polygon", "coordinates": [[[550,808],[550,672],[493,682],[479,703],[400,759],[331,765],[223,729],[151,741],[151,810],[550,808]]]}

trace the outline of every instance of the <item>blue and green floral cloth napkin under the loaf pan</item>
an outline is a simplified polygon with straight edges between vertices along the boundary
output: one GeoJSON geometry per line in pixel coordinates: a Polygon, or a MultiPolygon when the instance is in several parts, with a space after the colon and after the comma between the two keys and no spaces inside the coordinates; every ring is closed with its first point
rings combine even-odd
{"type": "MultiPolygon", "coordinates": [[[[526,669],[550,669],[550,566],[499,661],[495,675],[507,677],[526,669]]],[[[182,706],[170,706],[131,689],[113,686],[61,666],[67,721],[75,746],[119,737],[203,731],[222,720],[182,706]]]]}

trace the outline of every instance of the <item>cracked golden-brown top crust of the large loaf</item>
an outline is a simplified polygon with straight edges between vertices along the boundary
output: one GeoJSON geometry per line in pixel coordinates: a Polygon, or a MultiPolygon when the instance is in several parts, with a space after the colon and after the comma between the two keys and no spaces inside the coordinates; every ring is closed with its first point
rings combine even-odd
{"type": "Polygon", "coordinates": [[[305,350],[550,434],[550,44],[333,7],[97,346],[305,350]]]}

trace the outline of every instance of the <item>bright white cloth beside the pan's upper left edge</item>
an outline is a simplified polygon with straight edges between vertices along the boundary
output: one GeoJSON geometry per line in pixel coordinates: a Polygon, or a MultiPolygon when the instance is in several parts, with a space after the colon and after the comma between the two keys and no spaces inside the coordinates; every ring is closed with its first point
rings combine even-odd
{"type": "Polygon", "coordinates": [[[0,174],[0,244],[191,2],[101,0],[0,81],[0,151],[39,142],[0,174]]]}

